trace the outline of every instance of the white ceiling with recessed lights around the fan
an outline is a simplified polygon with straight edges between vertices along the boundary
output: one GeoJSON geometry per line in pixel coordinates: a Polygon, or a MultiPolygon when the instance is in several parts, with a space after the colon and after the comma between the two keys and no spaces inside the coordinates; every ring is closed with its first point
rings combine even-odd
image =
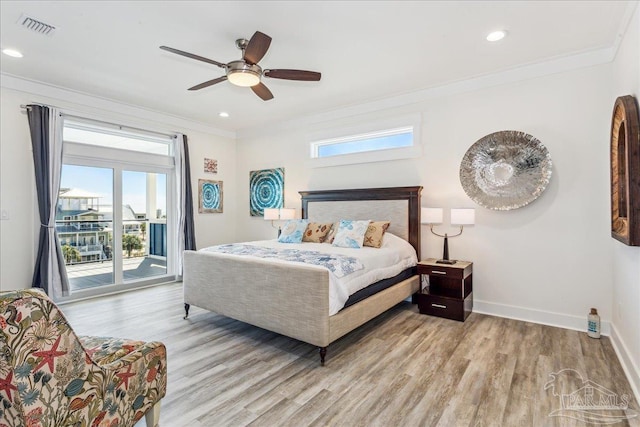
{"type": "Polygon", "coordinates": [[[0,1],[2,73],[237,131],[615,46],[637,2],[618,1],[0,1]],[[22,14],[54,25],[44,36],[22,14]],[[488,32],[506,29],[497,43],[488,32]],[[237,38],[273,38],[263,68],[322,72],[264,78],[275,98],[224,82],[237,38]],[[218,117],[227,111],[229,118],[218,117]]]}

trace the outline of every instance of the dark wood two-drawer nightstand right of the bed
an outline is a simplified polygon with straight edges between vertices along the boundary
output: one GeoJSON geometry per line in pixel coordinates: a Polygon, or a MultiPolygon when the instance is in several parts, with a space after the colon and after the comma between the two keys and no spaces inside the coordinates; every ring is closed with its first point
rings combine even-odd
{"type": "Polygon", "coordinates": [[[429,286],[416,295],[420,313],[462,322],[473,309],[473,263],[438,264],[435,258],[418,263],[418,274],[429,286]]]}

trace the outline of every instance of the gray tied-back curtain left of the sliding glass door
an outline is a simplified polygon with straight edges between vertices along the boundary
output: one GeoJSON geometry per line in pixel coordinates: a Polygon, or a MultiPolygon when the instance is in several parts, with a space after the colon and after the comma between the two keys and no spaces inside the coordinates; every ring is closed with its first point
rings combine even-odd
{"type": "Polygon", "coordinates": [[[28,105],[38,194],[40,235],[31,286],[56,298],[69,295],[69,279],[56,234],[56,208],[62,170],[62,118],[56,109],[28,105]]]}

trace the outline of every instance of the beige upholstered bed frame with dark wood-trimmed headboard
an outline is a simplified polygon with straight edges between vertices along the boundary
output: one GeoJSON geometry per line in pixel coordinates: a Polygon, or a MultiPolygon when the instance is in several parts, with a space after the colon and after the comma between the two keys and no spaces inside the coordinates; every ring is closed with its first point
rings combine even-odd
{"type": "MultiPolygon", "coordinates": [[[[422,187],[301,191],[302,218],[389,220],[387,230],[413,246],[420,259],[422,187]]],[[[329,271],[317,266],[185,251],[185,318],[194,305],[319,347],[325,363],[333,341],[419,291],[412,269],[386,287],[330,315],[329,271]]]]}

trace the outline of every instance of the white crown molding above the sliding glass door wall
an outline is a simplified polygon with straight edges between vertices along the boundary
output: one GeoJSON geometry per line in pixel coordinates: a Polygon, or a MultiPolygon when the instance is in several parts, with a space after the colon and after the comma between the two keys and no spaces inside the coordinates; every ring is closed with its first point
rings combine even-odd
{"type": "MultiPolygon", "coordinates": [[[[113,116],[126,116],[127,120],[143,120],[153,122],[163,128],[176,127],[190,129],[225,138],[236,138],[236,132],[218,129],[202,122],[196,122],[188,118],[171,115],[162,111],[150,110],[131,104],[126,104],[112,99],[74,91],[68,88],[54,86],[47,83],[29,80],[13,74],[0,73],[0,87],[24,92],[34,96],[33,102],[42,102],[42,98],[60,100],[65,105],[56,105],[63,110],[71,109],[78,115],[87,114],[87,111],[98,111],[113,116]]],[[[47,102],[42,102],[47,104],[47,102]]],[[[54,102],[55,103],[55,102],[54,102]]],[[[176,129],[167,129],[176,132],[176,129]]],[[[184,133],[184,132],[182,132],[184,133]]]]}

